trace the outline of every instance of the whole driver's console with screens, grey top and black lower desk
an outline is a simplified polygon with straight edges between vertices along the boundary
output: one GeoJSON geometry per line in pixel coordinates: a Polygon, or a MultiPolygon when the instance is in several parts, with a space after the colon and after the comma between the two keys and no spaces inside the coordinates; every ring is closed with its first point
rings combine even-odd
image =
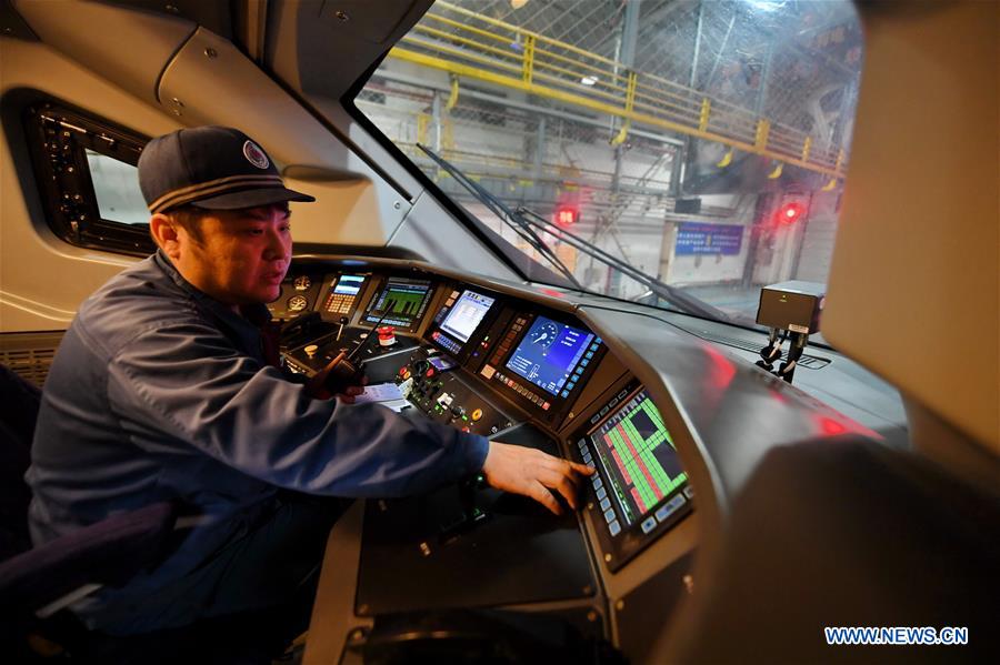
{"type": "Polygon", "coordinates": [[[639,654],[762,455],[843,434],[886,442],[904,422],[901,404],[884,416],[898,395],[833,352],[811,352],[803,391],[753,366],[761,333],[417,261],[300,256],[270,310],[292,372],[347,353],[399,389],[407,417],[594,468],[583,510],[560,517],[481,478],[364,502],[334,527],[328,556],[348,563],[317,599],[340,626],[531,607],[639,654]]]}

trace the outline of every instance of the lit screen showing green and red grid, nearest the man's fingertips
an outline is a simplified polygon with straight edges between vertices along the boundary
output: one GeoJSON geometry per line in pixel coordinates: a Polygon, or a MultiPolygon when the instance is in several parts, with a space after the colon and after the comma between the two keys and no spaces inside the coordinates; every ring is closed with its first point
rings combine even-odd
{"type": "MultiPolygon", "coordinates": [[[[590,443],[611,485],[608,494],[617,504],[614,512],[628,525],[688,480],[660,412],[644,390],[591,432],[590,443]]],[[[677,507],[682,503],[683,497],[677,507]]]]}

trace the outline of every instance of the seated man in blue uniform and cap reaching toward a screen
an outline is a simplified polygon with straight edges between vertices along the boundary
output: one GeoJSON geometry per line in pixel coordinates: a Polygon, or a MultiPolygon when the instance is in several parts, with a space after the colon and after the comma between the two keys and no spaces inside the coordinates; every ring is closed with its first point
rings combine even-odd
{"type": "Polygon", "coordinates": [[[342,508],[314,496],[399,496],[482,473],[553,512],[549,487],[576,506],[587,467],[349,404],[358,389],[316,399],[274,366],[260,331],[291,259],[288,202],[313,199],[286,189],[248,137],[160,137],[139,180],[159,251],[67,331],[27,475],[31,533],[46,542],[162,500],[200,525],[154,570],[74,605],[90,627],[147,633],[284,603],[342,508]]]}

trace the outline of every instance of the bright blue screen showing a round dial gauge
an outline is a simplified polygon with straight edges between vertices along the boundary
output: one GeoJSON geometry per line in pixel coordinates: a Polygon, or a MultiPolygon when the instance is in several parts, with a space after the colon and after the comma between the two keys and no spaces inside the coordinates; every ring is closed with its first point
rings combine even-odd
{"type": "MultiPolygon", "coordinates": [[[[539,316],[514,349],[507,367],[543,391],[558,395],[563,386],[572,390],[570,376],[588,350],[593,334],[572,325],[539,316]]],[[[572,382],[574,383],[574,382],[572,382]]],[[[563,396],[568,393],[563,391],[563,396]]]]}

